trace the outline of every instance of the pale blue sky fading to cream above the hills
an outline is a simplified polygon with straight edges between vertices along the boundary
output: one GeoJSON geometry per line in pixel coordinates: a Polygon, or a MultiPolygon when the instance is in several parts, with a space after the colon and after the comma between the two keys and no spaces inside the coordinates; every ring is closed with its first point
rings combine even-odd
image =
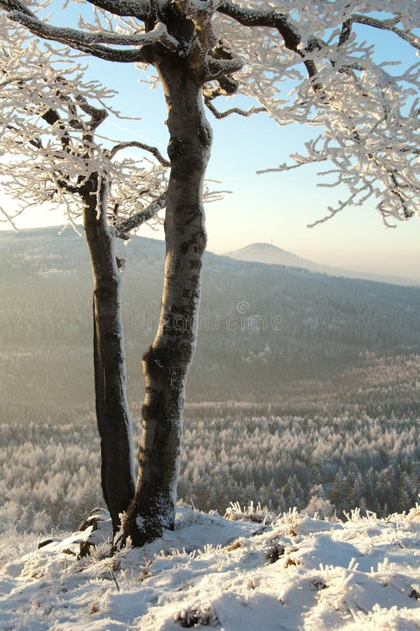
{"type": "MultiPolygon", "coordinates": [[[[63,15],[57,14],[57,18],[63,15]]],[[[384,42],[379,37],[380,52],[384,42]]],[[[405,57],[407,49],[396,36],[386,36],[386,46],[388,58],[405,57]]],[[[141,120],[109,118],[101,130],[116,140],[150,142],[165,152],[168,133],[161,88],[150,90],[140,82],[146,75],[131,65],[118,65],[113,72],[109,69],[109,63],[95,60],[90,62],[88,74],[118,90],[114,107],[124,116],[141,120]]],[[[348,208],[329,222],[308,229],[307,224],[323,217],[340,196],[338,189],[317,186],[319,166],[257,175],[257,170],[287,161],[292,151],[302,151],[305,140],[311,137],[308,128],[279,127],[266,114],[247,119],[229,116],[217,121],[209,112],[208,118],[214,139],[207,177],[221,182],[212,184],[216,189],[231,191],[206,208],[210,251],[222,254],[256,241],[266,242],[321,264],[420,280],[418,218],[398,222],[395,229],[389,229],[374,210],[374,203],[366,203],[363,208],[348,208]]],[[[2,203],[10,208],[11,202],[0,190],[2,203]]],[[[63,221],[56,212],[36,209],[23,215],[17,225],[60,225],[63,221]]],[[[10,226],[0,224],[0,229],[10,226]]],[[[151,231],[147,226],[140,234],[163,238],[163,231],[151,231]]]]}

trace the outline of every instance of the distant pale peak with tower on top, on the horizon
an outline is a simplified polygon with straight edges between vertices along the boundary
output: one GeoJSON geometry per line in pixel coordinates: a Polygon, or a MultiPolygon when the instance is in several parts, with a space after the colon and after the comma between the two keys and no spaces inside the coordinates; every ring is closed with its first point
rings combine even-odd
{"type": "Polygon", "coordinates": [[[268,265],[285,265],[287,267],[300,267],[316,271],[330,276],[344,276],[345,278],[360,278],[362,280],[377,280],[379,283],[391,283],[393,285],[416,285],[414,280],[400,278],[399,276],[388,276],[386,274],[372,274],[364,271],[343,269],[330,265],[321,265],[309,259],[303,259],[292,252],[282,250],[281,247],[271,245],[271,243],[251,243],[241,247],[240,250],[226,252],[225,257],[238,261],[252,261],[255,263],[266,263],[268,265]]]}

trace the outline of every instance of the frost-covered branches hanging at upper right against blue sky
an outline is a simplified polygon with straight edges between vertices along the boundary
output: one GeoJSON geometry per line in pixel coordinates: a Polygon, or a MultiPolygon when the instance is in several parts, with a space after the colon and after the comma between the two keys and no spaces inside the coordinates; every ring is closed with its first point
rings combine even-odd
{"type": "Polygon", "coordinates": [[[319,222],[370,198],[387,225],[420,216],[418,3],[365,1],[363,13],[347,0],[285,0],[276,10],[264,0],[242,4],[223,0],[216,20],[244,61],[238,91],[256,98],[278,125],[319,129],[290,163],[270,170],[325,162],[322,185],[344,184],[348,195],[319,222]],[[404,39],[412,65],[378,62],[374,45],[359,36],[362,24],[404,39]]]}

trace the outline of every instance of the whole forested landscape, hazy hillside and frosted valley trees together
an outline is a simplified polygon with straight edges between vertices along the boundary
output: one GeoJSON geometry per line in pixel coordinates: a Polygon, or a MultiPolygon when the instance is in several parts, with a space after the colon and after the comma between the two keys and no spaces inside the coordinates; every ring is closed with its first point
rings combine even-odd
{"type": "MultiPolygon", "coordinates": [[[[0,241],[0,528],[74,529],[103,505],[86,246],[56,229],[0,241]]],[[[163,244],[135,238],[122,254],[138,434],[163,244]]],[[[179,497],[219,513],[231,501],[325,516],[413,506],[420,290],[211,254],[204,274],[179,497]]]]}

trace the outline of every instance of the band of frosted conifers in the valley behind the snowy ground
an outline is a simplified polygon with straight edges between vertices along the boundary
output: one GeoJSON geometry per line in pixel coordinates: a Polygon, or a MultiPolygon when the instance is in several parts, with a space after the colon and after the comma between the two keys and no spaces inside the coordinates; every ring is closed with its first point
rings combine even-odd
{"type": "MultiPolygon", "coordinates": [[[[202,510],[258,501],[273,513],[333,505],[408,510],[420,489],[418,417],[267,414],[265,405],[194,404],[179,497],[202,510]],[[258,409],[259,407],[259,409],[258,409]],[[259,414],[255,414],[259,412],[259,414]]],[[[92,414],[0,426],[0,529],[76,529],[103,504],[92,414]]]]}

